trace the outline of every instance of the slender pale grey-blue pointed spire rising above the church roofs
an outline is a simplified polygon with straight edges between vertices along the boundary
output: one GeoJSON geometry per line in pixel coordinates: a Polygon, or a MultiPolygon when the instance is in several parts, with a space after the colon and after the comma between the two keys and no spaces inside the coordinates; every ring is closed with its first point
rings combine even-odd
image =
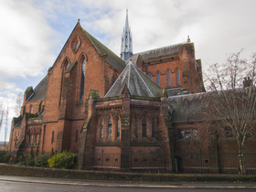
{"type": "Polygon", "coordinates": [[[126,9],[125,27],[122,34],[121,59],[128,60],[133,56],[133,37],[128,22],[128,9],[126,9]]]}

